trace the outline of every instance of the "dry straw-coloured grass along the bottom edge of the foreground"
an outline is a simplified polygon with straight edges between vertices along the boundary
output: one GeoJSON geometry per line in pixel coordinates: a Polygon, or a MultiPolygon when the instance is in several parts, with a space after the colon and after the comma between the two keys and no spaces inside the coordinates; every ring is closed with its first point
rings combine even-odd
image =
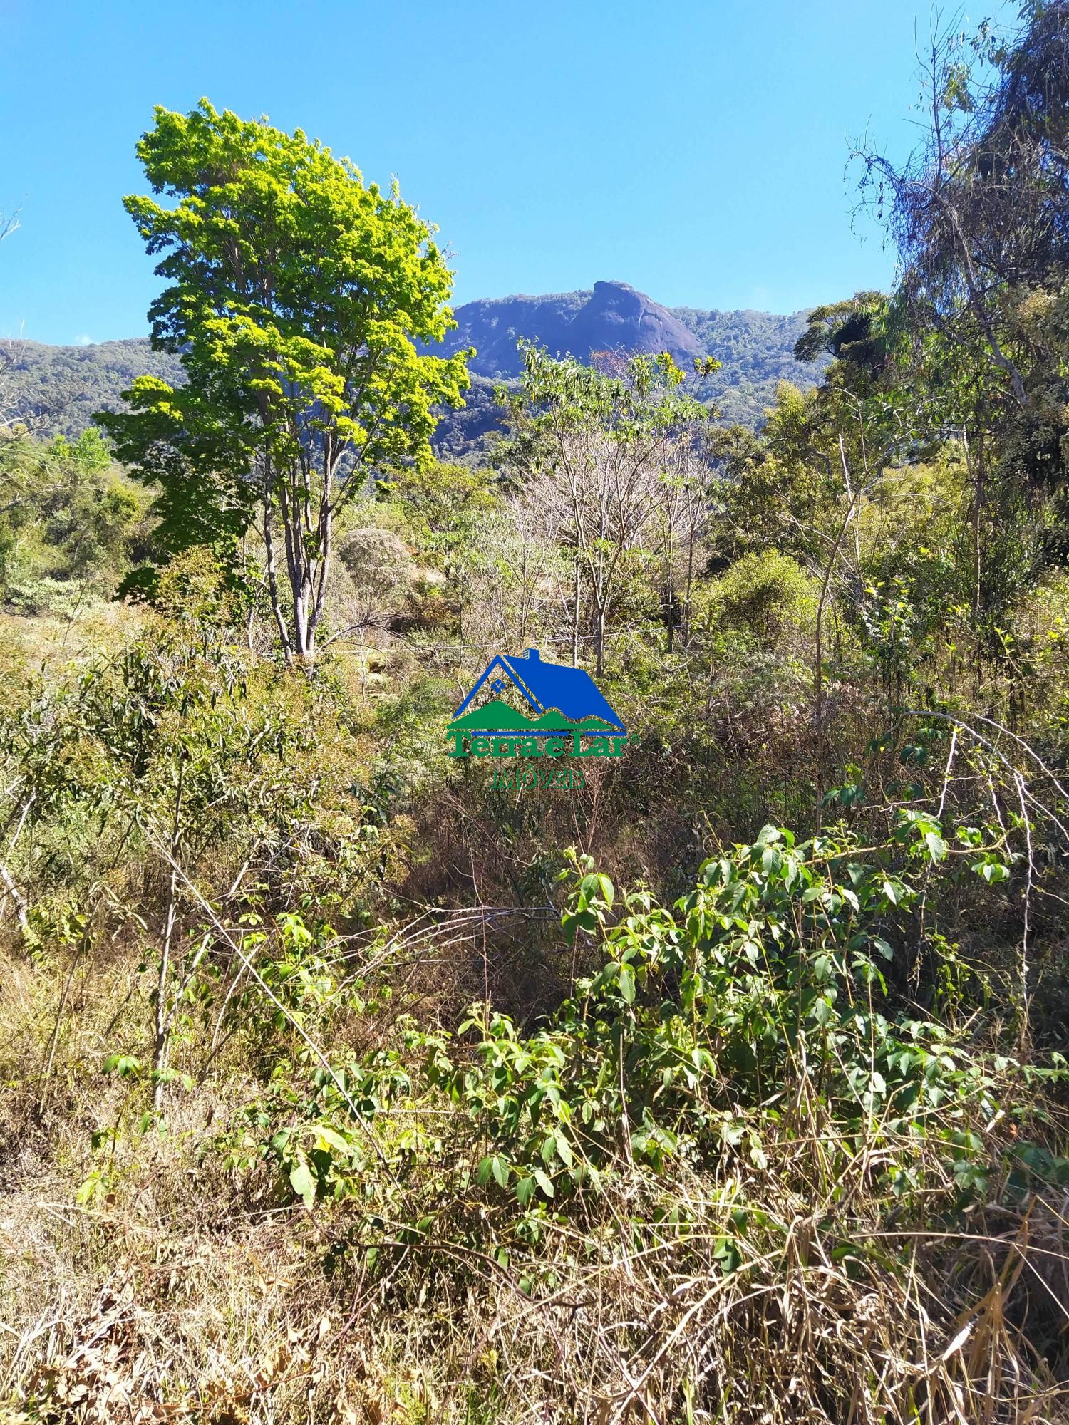
{"type": "MultiPolygon", "coordinates": [[[[224,1063],[174,1093],[165,1131],[123,1136],[113,1187],[80,1204],[90,1134],[130,1092],[97,1067],[131,976],[114,955],[70,996],[41,1110],[63,976],[20,956],[3,966],[11,1421],[1069,1419],[1065,1197],[922,1230],[874,1194],[865,1144],[848,1156],[797,1126],[765,1140],[761,1168],[733,1154],[667,1178],[621,1161],[600,1196],[503,1261],[460,1231],[480,1213],[487,1240],[495,1226],[462,1193],[419,1248],[385,1231],[372,1274],[351,1203],[281,1208],[265,1178],[235,1184],[201,1160],[198,1141],[254,1090],[224,1063]],[[656,1226],[666,1208],[686,1228],[656,1226]]],[[[144,1016],[140,992],[127,1005],[131,1023],[144,1016]]]]}

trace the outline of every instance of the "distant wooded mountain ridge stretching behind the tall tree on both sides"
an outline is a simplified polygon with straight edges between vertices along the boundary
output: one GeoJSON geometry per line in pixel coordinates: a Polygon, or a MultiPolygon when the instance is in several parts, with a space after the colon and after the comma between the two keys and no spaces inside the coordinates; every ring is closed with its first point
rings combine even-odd
{"type": "MultiPolygon", "coordinates": [[[[603,352],[667,351],[691,370],[696,356],[716,356],[721,369],[701,383],[698,395],[716,405],[724,423],[758,426],[777,382],[812,386],[820,373],[820,366],[794,359],[805,312],[778,316],[667,308],[627,282],[596,282],[590,292],[465,302],[456,308],[456,331],[436,349],[450,355],[475,346],[477,355],[465,409],[445,412],[435,437],[445,459],[480,453],[500,428],[493,389],[519,375],[520,336],[583,362],[603,352]]],[[[120,392],[144,373],[180,382],[181,363],[177,356],[154,352],[147,338],[87,346],[0,341],[0,416],[17,415],[43,436],[77,436],[94,410],[120,409],[120,392]]]]}

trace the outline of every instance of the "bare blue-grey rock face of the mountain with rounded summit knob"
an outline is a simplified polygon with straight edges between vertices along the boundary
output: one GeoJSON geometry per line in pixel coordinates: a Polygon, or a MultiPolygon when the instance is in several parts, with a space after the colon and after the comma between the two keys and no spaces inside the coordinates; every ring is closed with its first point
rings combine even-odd
{"type": "Polygon", "coordinates": [[[703,348],[667,306],[627,282],[594,282],[593,292],[560,292],[547,296],[500,296],[466,302],[456,309],[458,329],[450,332],[446,353],[475,346],[472,370],[477,376],[516,376],[519,338],[537,341],[554,356],[590,362],[600,353],[624,356],[671,352],[688,368],[703,348]]]}

